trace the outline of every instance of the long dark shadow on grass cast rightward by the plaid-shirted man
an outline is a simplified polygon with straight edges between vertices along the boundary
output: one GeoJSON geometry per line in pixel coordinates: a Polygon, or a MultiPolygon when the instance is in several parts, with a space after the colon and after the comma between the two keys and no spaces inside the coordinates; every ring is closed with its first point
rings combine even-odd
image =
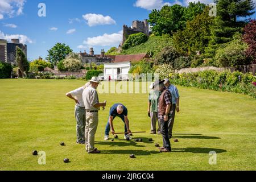
{"type": "Polygon", "coordinates": [[[200,147],[172,148],[172,152],[191,152],[191,153],[209,154],[210,151],[215,151],[217,154],[226,152],[226,150],[223,150],[220,148],[200,148],[200,147]]]}

